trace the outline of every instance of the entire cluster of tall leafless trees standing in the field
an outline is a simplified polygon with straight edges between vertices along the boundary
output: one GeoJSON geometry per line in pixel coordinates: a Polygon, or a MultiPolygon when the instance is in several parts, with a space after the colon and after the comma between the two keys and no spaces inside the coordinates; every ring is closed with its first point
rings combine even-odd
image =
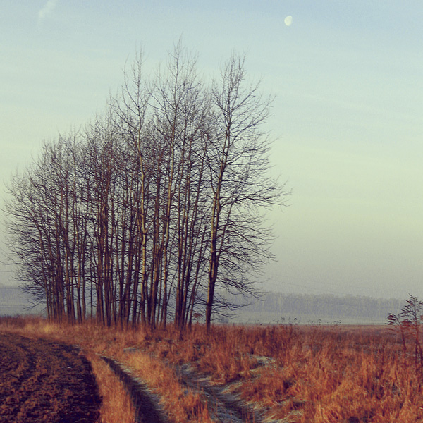
{"type": "Polygon", "coordinates": [[[49,319],[183,328],[250,293],[270,257],[264,209],[281,204],[262,123],[269,99],[233,55],[220,78],[197,75],[176,46],[145,74],[124,73],[106,112],[45,142],[13,176],[8,244],[25,290],[49,319]]]}

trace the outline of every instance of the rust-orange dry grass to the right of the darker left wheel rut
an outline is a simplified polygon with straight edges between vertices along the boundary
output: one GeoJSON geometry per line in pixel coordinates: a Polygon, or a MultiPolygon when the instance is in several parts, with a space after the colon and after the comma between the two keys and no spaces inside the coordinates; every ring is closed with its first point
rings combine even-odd
{"type": "Polygon", "coordinates": [[[159,394],[173,422],[211,421],[203,398],[183,388],[170,365],[184,362],[283,422],[423,422],[422,369],[412,345],[404,352],[385,327],[215,326],[207,335],[200,325],[182,334],[172,326],[152,334],[36,319],[0,325],[125,363],[159,394]]]}

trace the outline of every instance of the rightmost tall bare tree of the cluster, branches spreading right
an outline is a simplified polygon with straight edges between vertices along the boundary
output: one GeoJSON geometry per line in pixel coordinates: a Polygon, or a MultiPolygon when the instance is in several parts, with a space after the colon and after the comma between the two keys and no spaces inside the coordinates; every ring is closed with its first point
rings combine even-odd
{"type": "Polygon", "coordinates": [[[206,324],[210,328],[219,277],[224,286],[248,292],[247,277],[269,253],[271,232],[263,208],[281,204],[282,188],[269,177],[269,140],[262,124],[271,99],[259,84],[245,82],[245,56],[233,55],[214,82],[214,132],[205,154],[212,188],[206,324]]]}

